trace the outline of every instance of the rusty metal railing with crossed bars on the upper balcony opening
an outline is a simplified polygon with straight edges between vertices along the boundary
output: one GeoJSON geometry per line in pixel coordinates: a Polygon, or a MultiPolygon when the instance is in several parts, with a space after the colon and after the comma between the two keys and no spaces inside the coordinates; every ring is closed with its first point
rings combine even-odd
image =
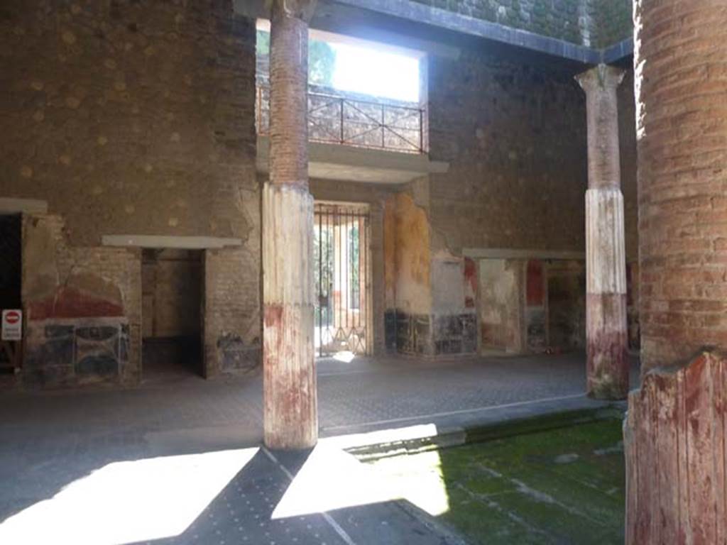
{"type": "MultiPolygon", "coordinates": [[[[270,89],[257,87],[257,134],[270,134],[270,89]]],[[[425,153],[425,110],[308,93],[308,140],[401,153],[425,153]]]]}

